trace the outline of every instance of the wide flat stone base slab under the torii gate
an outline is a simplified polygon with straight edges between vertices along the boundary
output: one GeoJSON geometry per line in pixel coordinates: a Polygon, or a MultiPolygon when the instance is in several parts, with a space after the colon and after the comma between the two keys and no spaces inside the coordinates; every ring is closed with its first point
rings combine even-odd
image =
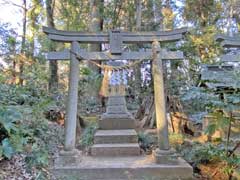
{"type": "Polygon", "coordinates": [[[57,179],[74,180],[177,180],[193,179],[192,167],[179,158],[176,164],[156,164],[151,155],[132,157],[81,156],[78,164],[55,161],[57,179]]]}

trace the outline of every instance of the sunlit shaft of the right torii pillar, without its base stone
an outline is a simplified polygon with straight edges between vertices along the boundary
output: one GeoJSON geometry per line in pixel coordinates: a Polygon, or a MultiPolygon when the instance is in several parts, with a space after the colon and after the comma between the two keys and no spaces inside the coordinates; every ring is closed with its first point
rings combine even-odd
{"type": "Polygon", "coordinates": [[[156,124],[158,133],[158,145],[160,150],[169,150],[168,122],[164,95],[164,81],[162,60],[160,58],[160,43],[152,43],[153,61],[152,73],[154,81],[154,102],[156,111],[156,124]]]}

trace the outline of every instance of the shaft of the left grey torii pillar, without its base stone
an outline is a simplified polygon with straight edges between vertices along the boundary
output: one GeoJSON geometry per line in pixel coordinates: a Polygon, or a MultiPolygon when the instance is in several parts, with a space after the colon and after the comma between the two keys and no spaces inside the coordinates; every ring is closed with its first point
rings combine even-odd
{"type": "MultiPolygon", "coordinates": [[[[72,42],[71,51],[77,52],[78,42],[72,42]]],[[[70,73],[69,89],[67,102],[67,117],[65,122],[65,151],[73,151],[76,141],[76,124],[77,124],[77,103],[78,103],[78,80],[79,80],[79,61],[74,54],[70,55],[70,73]]]]}

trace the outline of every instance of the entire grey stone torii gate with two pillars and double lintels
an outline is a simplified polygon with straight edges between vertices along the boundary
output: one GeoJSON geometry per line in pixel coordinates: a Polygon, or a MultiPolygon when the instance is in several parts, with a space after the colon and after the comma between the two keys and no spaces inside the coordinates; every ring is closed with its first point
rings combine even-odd
{"type": "Polygon", "coordinates": [[[47,59],[49,60],[70,59],[67,119],[65,122],[63,155],[73,156],[77,153],[77,150],[75,149],[75,136],[78,103],[79,57],[82,60],[94,61],[152,59],[156,124],[159,145],[159,149],[155,153],[156,162],[159,161],[158,157],[161,159],[162,155],[171,153],[168,138],[168,121],[165,108],[162,60],[183,59],[183,53],[179,51],[161,49],[160,43],[176,42],[181,40],[183,35],[187,32],[186,28],[160,32],[121,32],[113,30],[109,33],[82,33],[43,27],[43,31],[47,34],[48,38],[53,41],[71,43],[70,49],[65,49],[61,52],[49,52],[47,54],[47,59]],[[110,51],[89,52],[80,48],[80,43],[109,43],[110,51]],[[122,50],[122,45],[124,43],[151,43],[152,51],[124,52],[122,50]]]}

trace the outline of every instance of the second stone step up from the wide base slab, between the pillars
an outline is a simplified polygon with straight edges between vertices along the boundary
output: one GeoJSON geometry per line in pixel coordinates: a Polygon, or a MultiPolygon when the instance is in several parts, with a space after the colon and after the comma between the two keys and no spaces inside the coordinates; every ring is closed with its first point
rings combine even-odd
{"type": "Polygon", "coordinates": [[[98,130],[94,135],[94,144],[137,142],[137,132],[134,129],[98,130]]]}

